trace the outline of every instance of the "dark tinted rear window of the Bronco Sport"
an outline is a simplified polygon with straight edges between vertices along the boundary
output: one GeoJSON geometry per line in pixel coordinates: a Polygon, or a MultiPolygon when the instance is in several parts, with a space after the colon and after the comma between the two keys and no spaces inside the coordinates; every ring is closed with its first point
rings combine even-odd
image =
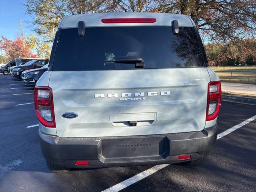
{"type": "Polygon", "coordinates": [[[144,69],[204,66],[200,40],[192,27],[92,27],[80,37],[77,28],[62,29],[52,70],[136,69],[117,59],[142,58],[144,69]]]}

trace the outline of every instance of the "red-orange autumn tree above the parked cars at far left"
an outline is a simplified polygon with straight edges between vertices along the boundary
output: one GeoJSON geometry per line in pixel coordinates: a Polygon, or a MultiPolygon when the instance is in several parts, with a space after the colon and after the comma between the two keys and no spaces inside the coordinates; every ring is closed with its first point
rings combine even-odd
{"type": "Polygon", "coordinates": [[[28,45],[23,46],[22,39],[17,37],[15,40],[9,40],[2,36],[0,40],[0,49],[4,50],[8,58],[36,58],[36,55],[30,52],[28,45]]]}

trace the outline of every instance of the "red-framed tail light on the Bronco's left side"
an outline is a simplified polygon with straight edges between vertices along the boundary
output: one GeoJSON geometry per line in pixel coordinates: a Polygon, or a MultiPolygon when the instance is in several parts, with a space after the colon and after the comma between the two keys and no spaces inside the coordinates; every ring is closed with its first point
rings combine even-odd
{"type": "Polygon", "coordinates": [[[38,120],[46,127],[55,128],[52,89],[35,86],[34,100],[38,120]]]}

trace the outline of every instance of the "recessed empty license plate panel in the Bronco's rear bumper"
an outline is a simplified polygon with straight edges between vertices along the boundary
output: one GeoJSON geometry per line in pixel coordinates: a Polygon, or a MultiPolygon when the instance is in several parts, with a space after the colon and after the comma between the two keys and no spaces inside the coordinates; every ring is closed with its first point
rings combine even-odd
{"type": "Polygon", "coordinates": [[[102,139],[98,147],[102,162],[160,160],[169,155],[170,140],[165,136],[102,139]]]}

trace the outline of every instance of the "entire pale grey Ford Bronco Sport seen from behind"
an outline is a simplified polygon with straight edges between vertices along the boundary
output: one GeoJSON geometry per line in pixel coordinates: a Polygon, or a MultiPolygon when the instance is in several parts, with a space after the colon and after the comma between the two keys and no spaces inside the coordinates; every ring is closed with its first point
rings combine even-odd
{"type": "Polygon", "coordinates": [[[186,15],[64,17],[34,96],[52,172],[198,164],[214,150],[220,80],[186,15]]]}

